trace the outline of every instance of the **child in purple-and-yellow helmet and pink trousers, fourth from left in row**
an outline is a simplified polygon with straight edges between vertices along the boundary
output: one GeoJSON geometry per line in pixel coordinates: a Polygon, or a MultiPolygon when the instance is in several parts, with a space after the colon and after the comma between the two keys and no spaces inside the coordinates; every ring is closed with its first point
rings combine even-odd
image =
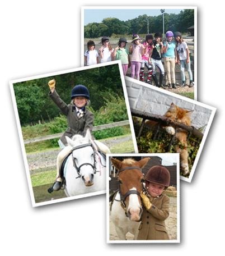
{"type": "Polygon", "coordinates": [[[139,72],[140,65],[142,63],[142,55],[144,54],[144,45],[140,44],[139,35],[133,34],[132,43],[129,48],[130,54],[132,54],[132,63],[130,66],[131,69],[131,78],[134,78],[134,74],[136,75],[136,79],[139,80],[139,72]]]}

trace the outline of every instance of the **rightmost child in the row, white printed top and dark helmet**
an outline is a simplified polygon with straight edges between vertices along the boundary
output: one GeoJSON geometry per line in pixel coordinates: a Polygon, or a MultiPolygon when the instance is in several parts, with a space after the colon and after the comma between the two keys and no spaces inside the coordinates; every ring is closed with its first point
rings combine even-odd
{"type": "Polygon", "coordinates": [[[175,42],[176,42],[176,60],[175,63],[178,63],[180,65],[180,72],[182,77],[182,85],[181,87],[186,86],[185,83],[185,73],[184,73],[184,65],[187,68],[187,72],[189,74],[190,79],[190,85],[189,87],[193,87],[193,77],[191,72],[191,63],[190,63],[190,57],[189,57],[189,49],[187,47],[187,43],[182,39],[182,36],[179,31],[174,33],[175,42]]]}

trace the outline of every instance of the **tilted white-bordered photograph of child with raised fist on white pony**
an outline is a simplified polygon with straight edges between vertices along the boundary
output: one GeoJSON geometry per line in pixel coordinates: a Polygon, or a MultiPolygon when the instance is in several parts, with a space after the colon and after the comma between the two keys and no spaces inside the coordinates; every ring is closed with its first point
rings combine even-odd
{"type": "Polygon", "coordinates": [[[125,88],[119,61],[10,81],[33,207],[106,193],[106,154],[137,152],[125,88]]]}

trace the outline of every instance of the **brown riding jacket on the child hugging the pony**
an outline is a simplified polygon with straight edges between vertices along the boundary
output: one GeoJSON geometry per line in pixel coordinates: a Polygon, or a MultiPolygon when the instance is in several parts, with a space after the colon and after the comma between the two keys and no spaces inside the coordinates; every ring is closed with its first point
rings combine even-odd
{"type": "Polygon", "coordinates": [[[152,205],[148,211],[143,207],[137,240],[170,240],[165,225],[165,220],[169,216],[170,198],[161,195],[149,200],[152,205]]]}

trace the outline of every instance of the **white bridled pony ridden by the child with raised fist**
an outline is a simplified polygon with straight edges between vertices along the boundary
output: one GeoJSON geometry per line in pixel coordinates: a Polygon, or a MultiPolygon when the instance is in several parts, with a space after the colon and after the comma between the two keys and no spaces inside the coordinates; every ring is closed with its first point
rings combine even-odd
{"type": "MultiPolygon", "coordinates": [[[[65,194],[73,196],[106,190],[106,164],[95,149],[90,131],[87,130],[84,138],[81,135],[65,138],[67,147],[72,150],[64,167],[65,194]]],[[[100,145],[100,141],[95,142],[100,145]]],[[[110,152],[109,148],[107,150],[110,152]]]]}

